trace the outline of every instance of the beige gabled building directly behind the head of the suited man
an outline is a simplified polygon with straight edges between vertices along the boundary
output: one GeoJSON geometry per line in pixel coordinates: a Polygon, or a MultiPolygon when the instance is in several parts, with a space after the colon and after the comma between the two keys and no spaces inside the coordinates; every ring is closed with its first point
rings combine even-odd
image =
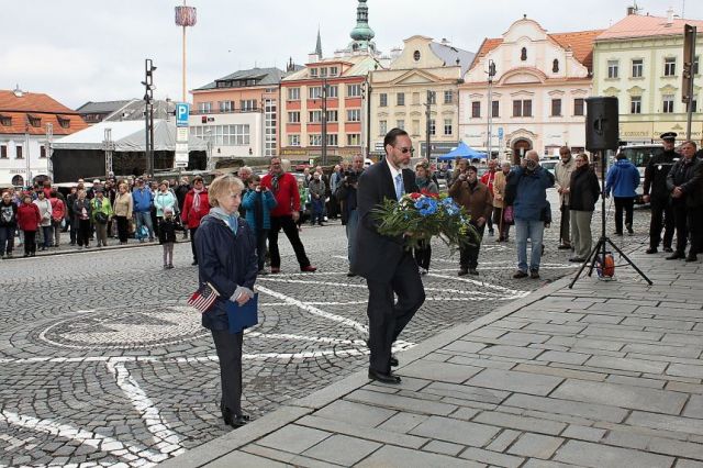
{"type": "Polygon", "coordinates": [[[475,54],[415,35],[393,55],[388,69],[369,74],[370,154],[384,154],[383,136],[393,127],[410,134],[415,156],[426,157],[427,133],[433,157],[448,153],[459,143],[457,87],[475,54]]]}

